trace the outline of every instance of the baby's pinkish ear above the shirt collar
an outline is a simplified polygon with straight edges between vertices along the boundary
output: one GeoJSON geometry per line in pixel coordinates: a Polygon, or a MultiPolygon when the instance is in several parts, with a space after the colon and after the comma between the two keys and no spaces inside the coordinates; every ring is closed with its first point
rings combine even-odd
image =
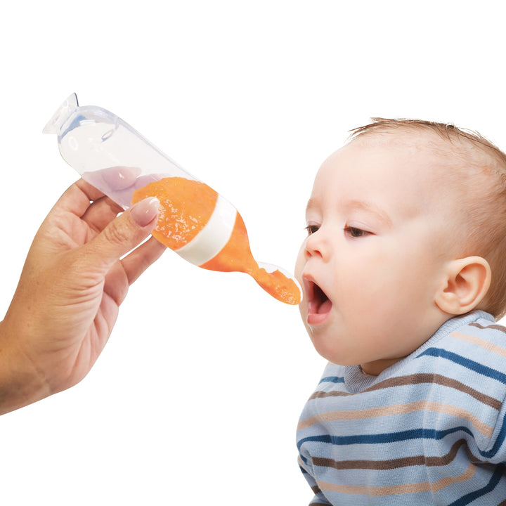
{"type": "Polygon", "coordinates": [[[485,297],[491,278],[491,268],[484,258],[453,260],[434,301],[441,311],[451,315],[472,311],[485,297]]]}

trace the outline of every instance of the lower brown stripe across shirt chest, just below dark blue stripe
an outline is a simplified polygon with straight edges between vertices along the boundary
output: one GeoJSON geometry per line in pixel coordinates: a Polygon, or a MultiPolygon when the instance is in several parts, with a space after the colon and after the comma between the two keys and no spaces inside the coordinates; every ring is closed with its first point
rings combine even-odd
{"type": "Polygon", "coordinates": [[[443,457],[424,457],[424,455],[415,455],[413,457],[397,458],[391,460],[332,460],[328,458],[313,457],[313,464],[321,467],[332,467],[332,469],[375,469],[377,471],[386,471],[387,469],[398,469],[399,467],[410,467],[424,465],[427,467],[448,465],[455,459],[455,455],[462,445],[465,445],[465,439],[459,439],[453,443],[450,451],[443,457]]]}

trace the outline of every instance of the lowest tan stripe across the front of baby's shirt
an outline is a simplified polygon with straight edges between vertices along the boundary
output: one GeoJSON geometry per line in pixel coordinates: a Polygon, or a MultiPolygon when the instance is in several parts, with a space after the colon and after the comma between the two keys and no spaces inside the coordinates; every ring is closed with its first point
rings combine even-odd
{"type": "Polygon", "coordinates": [[[435,481],[434,483],[430,483],[429,481],[422,481],[421,483],[414,484],[401,484],[401,485],[391,485],[391,486],[361,486],[361,485],[340,485],[340,484],[332,484],[327,481],[318,481],[318,485],[323,491],[332,491],[339,493],[348,493],[348,494],[361,494],[361,495],[372,495],[375,497],[379,497],[382,495],[395,495],[395,494],[406,494],[406,493],[417,493],[417,492],[427,492],[427,491],[440,491],[441,489],[453,485],[455,483],[462,483],[463,481],[467,481],[474,476],[476,472],[476,467],[474,464],[469,463],[469,466],[460,474],[460,476],[448,476],[446,478],[440,479],[439,481],[435,481]]]}

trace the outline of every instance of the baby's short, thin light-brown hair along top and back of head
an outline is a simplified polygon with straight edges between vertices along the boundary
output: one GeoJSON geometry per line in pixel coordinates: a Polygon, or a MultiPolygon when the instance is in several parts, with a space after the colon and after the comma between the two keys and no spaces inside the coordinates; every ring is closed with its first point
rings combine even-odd
{"type": "Polygon", "coordinates": [[[491,287],[479,308],[491,313],[496,320],[506,313],[506,155],[491,141],[476,131],[457,128],[453,124],[421,119],[372,118],[372,123],[351,130],[353,141],[372,134],[436,134],[439,154],[450,161],[453,176],[463,184],[476,186],[476,177],[462,177],[469,170],[479,178],[479,191],[468,188],[471,196],[467,207],[469,225],[463,239],[464,256],[479,255],[492,270],[491,287]],[[441,148],[442,145],[442,148],[441,148]]]}

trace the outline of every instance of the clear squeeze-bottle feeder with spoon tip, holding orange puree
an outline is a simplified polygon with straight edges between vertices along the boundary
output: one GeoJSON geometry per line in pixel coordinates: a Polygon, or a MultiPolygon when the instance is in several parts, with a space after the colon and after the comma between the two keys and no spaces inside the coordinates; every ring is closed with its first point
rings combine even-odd
{"type": "Polygon", "coordinates": [[[254,260],[237,209],[112,112],[79,106],[73,93],[44,134],[57,134],[65,162],[124,209],[158,197],[153,236],[184,259],[213,271],[247,273],[276,299],[299,304],[301,290],[292,275],[254,260]]]}

